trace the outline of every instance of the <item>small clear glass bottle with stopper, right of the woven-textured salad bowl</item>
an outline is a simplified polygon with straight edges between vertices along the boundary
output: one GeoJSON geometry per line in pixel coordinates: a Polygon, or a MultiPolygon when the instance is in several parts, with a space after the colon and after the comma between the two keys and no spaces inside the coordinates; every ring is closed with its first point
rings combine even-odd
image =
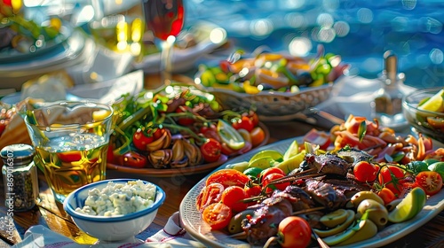
{"type": "Polygon", "coordinates": [[[380,82],[381,88],[377,90],[372,102],[372,117],[377,119],[382,126],[393,128],[401,127],[407,121],[402,113],[401,90],[404,84],[404,74],[398,74],[398,58],[388,50],[384,54],[385,70],[380,82]]]}

